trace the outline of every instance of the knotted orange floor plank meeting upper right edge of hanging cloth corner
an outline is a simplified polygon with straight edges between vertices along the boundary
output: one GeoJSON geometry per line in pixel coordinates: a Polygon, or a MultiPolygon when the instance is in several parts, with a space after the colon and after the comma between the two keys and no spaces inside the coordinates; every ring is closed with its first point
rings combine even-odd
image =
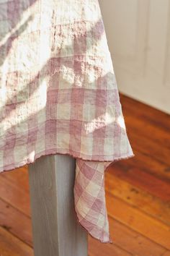
{"type": "Polygon", "coordinates": [[[170,226],[170,202],[164,202],[108,172],[104,179],[107,192],[170,226]]]}

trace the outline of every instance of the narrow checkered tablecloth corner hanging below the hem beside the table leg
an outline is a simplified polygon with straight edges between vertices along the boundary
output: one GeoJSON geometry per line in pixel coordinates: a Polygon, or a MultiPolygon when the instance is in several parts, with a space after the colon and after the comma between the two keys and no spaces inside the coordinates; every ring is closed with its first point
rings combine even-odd
{"type": "Polygon", "coordinates": [[[104,171],[112,162],[76,159],[74,204],[79,223],[100,242],[112,243],[104,191],[104,171]]]}

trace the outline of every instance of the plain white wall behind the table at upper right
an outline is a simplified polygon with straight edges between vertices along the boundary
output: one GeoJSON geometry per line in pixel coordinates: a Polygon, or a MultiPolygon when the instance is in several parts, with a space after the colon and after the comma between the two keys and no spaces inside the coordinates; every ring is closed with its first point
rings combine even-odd
{"type": "Polygon", "coordinates": [[[170,114],[170,0],[99,0],[120,92],[170,114]]]}

